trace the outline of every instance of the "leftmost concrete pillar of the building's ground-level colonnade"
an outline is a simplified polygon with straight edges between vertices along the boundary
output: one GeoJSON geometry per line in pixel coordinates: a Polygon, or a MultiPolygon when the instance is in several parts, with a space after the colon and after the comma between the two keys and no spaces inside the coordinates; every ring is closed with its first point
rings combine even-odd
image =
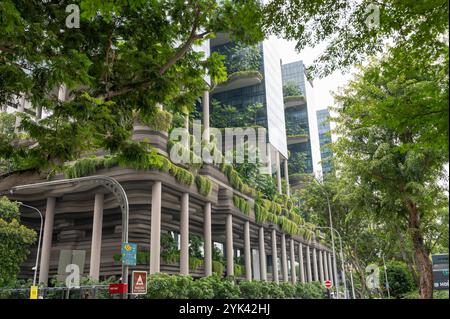
{"type": "Polygon", "coordinates": [[[53,222],[55,219],[56,198],[47,198],[45,209],[44,232],[42,235],[41,263],[39,267],[39,283],[48,284],[48,269],[50,264],[50,252],[52,250],[53,222]]]}

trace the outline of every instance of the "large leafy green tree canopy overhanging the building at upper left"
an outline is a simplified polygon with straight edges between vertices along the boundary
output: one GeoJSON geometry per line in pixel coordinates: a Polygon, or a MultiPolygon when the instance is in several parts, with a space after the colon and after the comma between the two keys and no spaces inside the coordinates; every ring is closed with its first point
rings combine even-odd
{"type": "Polygon", "coordinates": [[[21,115],[33,149],[0,149],[20,169],[61,166],[98,148],[114,154],[127,147],[136,111],[165,130],[157,104],[188,113],[208,88],[206,73],[213,84],[226,80],[223,57],[205,59],[194,45],[216,32],[249,45],[264,37],[259,1],[4,0],[0,14],[0,104],[23,93],[51,111],[38,122],[21,115]],[[66,26],[69,4],[80,7],[79,28],[66,26]],[[61,85],[70,100],[58,100],[61,85]]]}

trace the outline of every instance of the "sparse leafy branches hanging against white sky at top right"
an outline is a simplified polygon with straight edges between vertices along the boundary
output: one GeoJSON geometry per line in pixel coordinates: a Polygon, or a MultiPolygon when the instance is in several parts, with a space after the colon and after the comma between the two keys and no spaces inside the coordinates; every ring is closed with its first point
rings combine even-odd
{"type": "Polygon", "coordinates": [[[266,29],[297,41],[299,51],[326,40],[326,49],[309,70],[311,76],[322,77],[383,51],[387,39],[395,45],[409,43],[417,53],[433,50],[448,34],[449,4],[441,0],[272,0],[264,14],[266,29]]]}

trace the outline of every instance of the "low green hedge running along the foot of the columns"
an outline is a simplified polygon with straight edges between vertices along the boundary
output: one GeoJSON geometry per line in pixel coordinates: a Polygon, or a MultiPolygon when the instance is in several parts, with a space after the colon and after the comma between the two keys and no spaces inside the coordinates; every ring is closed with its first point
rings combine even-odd
{"type": "Polygon", "coordinates": [[[153,274],[148,278],[148,299],[323,299],[318,282],[290,283],[222,279],[218,275],[194,280],[191,276],[153,274]]]}

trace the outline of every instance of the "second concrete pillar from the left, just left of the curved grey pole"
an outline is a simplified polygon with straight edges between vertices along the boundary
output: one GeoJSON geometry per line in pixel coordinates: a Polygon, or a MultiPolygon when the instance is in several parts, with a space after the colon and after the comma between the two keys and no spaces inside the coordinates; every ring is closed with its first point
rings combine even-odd
{"type": "Polygon", "coordinates": [[[100,275],[100,260],[102,249],[102,226],[103,226],[103,193],[95,194],[94,220],[92,223],[91,261],[89,264],[89,277],[98,281],[100,275]]]}

